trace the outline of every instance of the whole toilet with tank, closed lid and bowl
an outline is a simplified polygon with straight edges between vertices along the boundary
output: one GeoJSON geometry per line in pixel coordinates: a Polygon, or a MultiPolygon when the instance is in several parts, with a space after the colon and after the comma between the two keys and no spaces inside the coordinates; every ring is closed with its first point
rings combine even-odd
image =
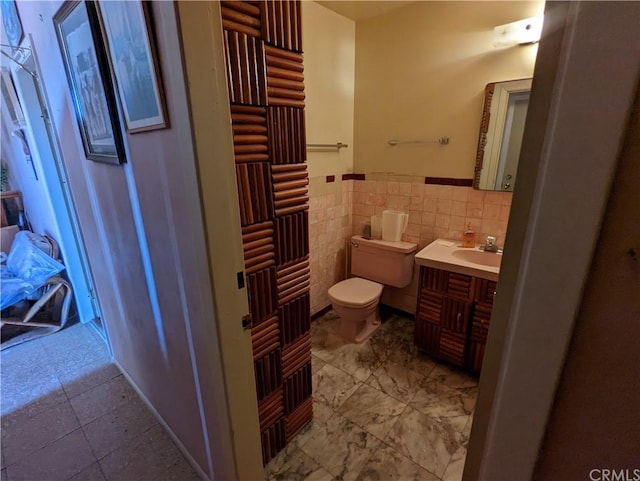
{"type": "Polygon", "coordinates": [[[380,326],[382,289],[409,285],[417,248],[410,242],[351,238],[351,274],[358,277],[338,282],[328,291],[346,341],[364,342],[380,326]]]}

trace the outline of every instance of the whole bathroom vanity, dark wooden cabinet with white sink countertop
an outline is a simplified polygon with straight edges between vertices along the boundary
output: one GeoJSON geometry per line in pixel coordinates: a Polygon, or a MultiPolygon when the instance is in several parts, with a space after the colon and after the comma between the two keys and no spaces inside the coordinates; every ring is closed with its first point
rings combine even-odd
{"type": "Polygon", "coordinates": [[[418,252],[415,344],[435,358],[479,373],[502,255],[436,239],[418,252]]]}

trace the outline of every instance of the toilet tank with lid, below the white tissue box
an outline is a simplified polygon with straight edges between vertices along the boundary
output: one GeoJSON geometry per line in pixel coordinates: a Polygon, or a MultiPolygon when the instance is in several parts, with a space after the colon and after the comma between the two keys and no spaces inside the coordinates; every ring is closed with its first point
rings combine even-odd
{"type": "Polygon", "coordinates": [[[351,238],[351,274],[394,287],[405,287],[413,275],[417,244],[351,238]]]}

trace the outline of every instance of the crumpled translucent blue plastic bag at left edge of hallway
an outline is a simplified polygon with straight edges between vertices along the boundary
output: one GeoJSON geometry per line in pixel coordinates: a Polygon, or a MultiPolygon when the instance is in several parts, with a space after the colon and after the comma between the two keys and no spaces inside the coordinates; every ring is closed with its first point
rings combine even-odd
{"type": "Polygon", "coordinates": [[[37,247],[40,239],[28,231],[18,232],[13,239],[0,279],[0,309],[29,298],[47,279],[64,270],[62,264],[37,247]]]}

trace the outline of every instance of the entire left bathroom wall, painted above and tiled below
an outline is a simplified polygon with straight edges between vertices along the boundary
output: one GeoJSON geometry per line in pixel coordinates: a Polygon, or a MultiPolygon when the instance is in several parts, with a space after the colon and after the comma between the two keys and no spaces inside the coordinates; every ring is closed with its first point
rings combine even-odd
{"type": "Polygon", "coordinates": [[[311,313],[330,304],[327,290],[345,278],[345,246],[351,234],[355,22],[315,3],[302,5],[306,135],[310,144],[349,147],[307,151],[311,313]],[[327,182],[326,176],[335,176],[327,182]]]}

